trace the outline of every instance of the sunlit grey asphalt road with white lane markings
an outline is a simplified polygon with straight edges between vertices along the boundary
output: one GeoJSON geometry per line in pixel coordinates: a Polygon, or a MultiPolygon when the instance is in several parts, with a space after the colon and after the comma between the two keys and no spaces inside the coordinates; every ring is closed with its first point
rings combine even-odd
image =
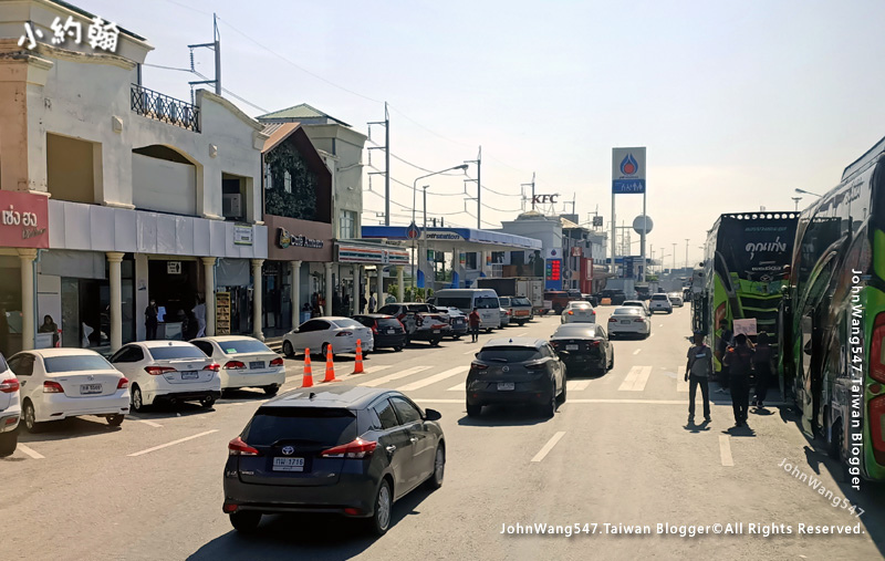
{"type": "MultiPolygon", "coordinates": [[[[600,308],[605,322],[611,308],[600,308]]],[[[266,396],[239,392],[214,411],[197,406],[132,415],[119,429],[102,419],[62,422],[22,435],[0,460],[0,539],[4,559],[878,559],[885,546],[885,495],[840,484],[840,469],[773,403],[751,408],[749,427],[732,428],[730,401],[714,394],[712,423],[689,425],[681,383],[688,308],[653,318],[646,341],[616,341],[615,367],[573,377],[552,419],[520,407],[486,408],[468,418],[464,381],[479,344],[418,343],[377,352],[365,374],[344,383],[395,387],[442,414],[448,441],[441,489],[423,489],[394,507],[379,539],[330,516],[266,517],[257,536],[232,531],[221,512],[227,443],[266,396]],[[781,464],[795,466],[796,474],[781,464]],[[847,498],[865,513],[834,508],[810,487],[847,498]],[[819,489],[820,489],[819,487],[819,489]],[[596,524],[595,533],[508,534],[503,526],[596,524]],[[796,534],[798,524],[851,524],[857,536],[796,534]],[[607,527],[605,523],[614,524],[607,527]],[[656,533],[657,524],[743,523],[742,534],[694,538],[656,533]],[[749,536],[749,524],[790,524],[792,534],[749,536]],[[653,534],[612,533],[648,524],[653,534]],[[11,553],[11,555],[9,554],[11,553]]],[[[549,337],[558,318],[503,335],[549,337]]],[[[483,334],[482,341],[492,336],[483,334]]],[[[301,384],[288,360],[284,389],[301,384]]],[[[322,363],[314,362],[315,380],[322,363]]],[[[698,398],[699,399],[699,398],[698,398]]],[[[700,404],[698,404],[699,406],[700,404]]],[[[592,531],[594,527],[589,526],[592,531]]]]}

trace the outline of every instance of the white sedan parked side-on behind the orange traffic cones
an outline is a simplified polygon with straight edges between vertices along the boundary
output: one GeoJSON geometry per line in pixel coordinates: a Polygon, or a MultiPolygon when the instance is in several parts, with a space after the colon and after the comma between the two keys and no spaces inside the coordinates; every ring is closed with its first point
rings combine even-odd
{"type": "Polygon", "coordinates": [[[332,354],[355,353],[356,340],[361,340],[363,354],[373,350],[375,340],[372,330],[350,318],[314,318],[308,320],[296,330],[283,335],[283,354],[292,356],[303,353],[322,353],[325,356],[331,347],[332,354]]]}

